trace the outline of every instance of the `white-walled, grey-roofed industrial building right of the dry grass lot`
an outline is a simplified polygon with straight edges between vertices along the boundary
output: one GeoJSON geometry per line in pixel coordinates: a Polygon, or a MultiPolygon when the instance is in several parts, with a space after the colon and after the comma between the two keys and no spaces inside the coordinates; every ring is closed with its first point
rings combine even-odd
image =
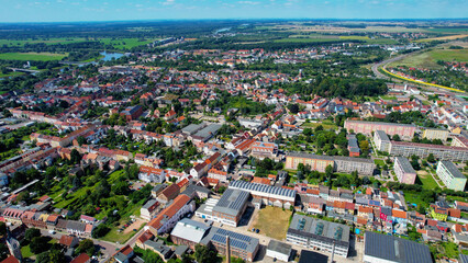
{"type": "Polygon", "coordinates": [[[349,227],[346,225],[294,215],[286,240],[307,249],[320,249],[328,253],[334,248],[336,255],[347,258],[349,231],[349,227]]]}

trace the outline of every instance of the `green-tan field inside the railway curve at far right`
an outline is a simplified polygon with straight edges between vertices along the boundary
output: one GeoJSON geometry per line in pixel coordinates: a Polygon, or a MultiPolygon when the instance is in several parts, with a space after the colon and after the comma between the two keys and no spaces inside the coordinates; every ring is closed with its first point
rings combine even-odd
{"type": "Polygon", "coordinates": [[[422,68],[441,68],[437,60],[444,61],[468,61],[468,49],[435,49],[426,53],[419,53],[413,56],[408,56],[402,60],[391,62],[390,67],[406,66],[422,68]]]}

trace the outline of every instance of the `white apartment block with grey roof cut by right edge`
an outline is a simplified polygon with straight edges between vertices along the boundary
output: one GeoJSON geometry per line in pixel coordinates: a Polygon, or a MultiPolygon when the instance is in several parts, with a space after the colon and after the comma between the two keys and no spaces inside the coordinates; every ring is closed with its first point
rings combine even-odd
{"type": "Polygon", "coordinates": [[[467,178],[450,161],[439,161],[436,170],[437,176],[444,182],[447,188],[454,191],[465,191],[467,178]]]}

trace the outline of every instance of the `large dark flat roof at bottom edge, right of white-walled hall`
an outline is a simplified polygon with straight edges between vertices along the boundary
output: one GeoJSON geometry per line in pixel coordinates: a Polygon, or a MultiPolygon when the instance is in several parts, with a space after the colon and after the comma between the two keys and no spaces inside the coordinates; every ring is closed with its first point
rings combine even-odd
{"type": "Polygon", "coordinates": [[[399,263],[433,262],[427,245],[366,231],[364,254],[399,263]]]}

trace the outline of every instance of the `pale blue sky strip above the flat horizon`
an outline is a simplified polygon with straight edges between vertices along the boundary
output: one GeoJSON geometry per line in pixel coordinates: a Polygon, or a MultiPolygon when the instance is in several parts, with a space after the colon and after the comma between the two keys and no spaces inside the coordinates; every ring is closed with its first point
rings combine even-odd
{"type": "Polygon", "coordinates": [[[0,22],[459,19],[467,0],[0,0],[0,22]]]}

